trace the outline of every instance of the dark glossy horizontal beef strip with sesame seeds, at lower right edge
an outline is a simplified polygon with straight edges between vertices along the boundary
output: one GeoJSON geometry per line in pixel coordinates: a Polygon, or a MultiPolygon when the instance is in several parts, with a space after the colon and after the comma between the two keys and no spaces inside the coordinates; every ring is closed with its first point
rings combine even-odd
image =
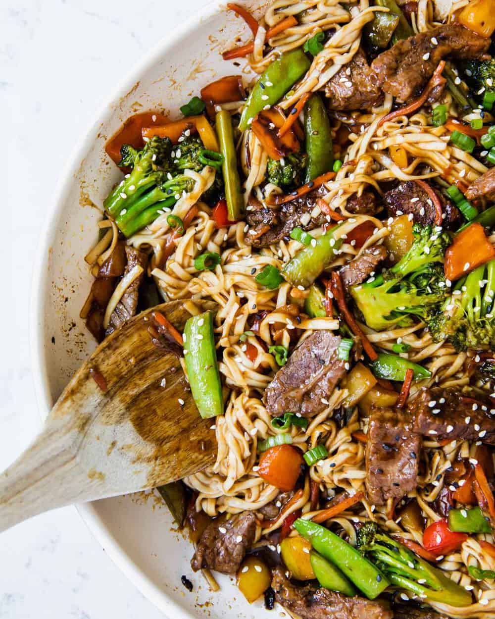
{"type": "Polygon", "coordinates": [[[488,398],[454,387],[422,389],[408,405],[415,418],[414,430],[423,436],[495,445],[495,415],[491,410],[495,408],[488,398]]]}

